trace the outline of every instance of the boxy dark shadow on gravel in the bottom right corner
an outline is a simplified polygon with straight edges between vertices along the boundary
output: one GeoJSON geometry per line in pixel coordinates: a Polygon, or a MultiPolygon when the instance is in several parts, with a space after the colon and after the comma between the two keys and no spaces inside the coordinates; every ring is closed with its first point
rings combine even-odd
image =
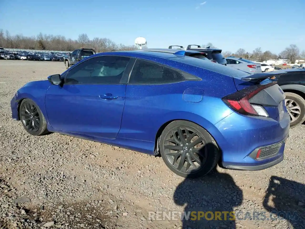
{"type": "Polygon", "coordinates": [[[270,218],[287,220],[288,228],[305,228],[305,185],[278,176],[271,176],[264,208],[270,218]]]}

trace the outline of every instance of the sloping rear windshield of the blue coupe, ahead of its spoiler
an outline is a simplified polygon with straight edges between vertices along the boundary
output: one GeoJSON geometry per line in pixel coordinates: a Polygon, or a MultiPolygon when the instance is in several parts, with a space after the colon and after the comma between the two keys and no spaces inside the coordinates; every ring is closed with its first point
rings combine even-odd
{"type": "Polygon", "coordinates": [[[217,72],[217,73],[220,73],[223,75],[228,75],[228,76],[238,78],[238,79],[251,75],[248,72],[240,71],[238,69],[228,67],[223,64],[217,64],[217,63],[213,63],[211,61],[202,61],[198,58],[193,58],[193,57],[189,57],[189,56],[173,57],[170,59],[181,62],[181,63],[190,64],[190,65],[193,65],[196,67],[201,67],[201,68],[209,70],[209,71],[214,71],[214,72],[217,72]]]}

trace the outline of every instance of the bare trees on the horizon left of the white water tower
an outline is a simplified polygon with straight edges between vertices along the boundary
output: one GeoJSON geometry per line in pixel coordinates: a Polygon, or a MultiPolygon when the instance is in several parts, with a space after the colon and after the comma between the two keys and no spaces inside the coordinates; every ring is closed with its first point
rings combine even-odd
{"type": "Polygon", "coordinates": [[[120,50],[134,50],[135,45],[116,44],[108,38],[95,37],[92,40],[87,34],[80,34],[77,40],[66,38],[62,35],[38,34],[26,37],[22,34],[10,35],[9,31],[0,29],[0,47],[11,49],[36,49],[74,51],[80,47],[94,48],[96,52],[109,52],[120,50]]]}

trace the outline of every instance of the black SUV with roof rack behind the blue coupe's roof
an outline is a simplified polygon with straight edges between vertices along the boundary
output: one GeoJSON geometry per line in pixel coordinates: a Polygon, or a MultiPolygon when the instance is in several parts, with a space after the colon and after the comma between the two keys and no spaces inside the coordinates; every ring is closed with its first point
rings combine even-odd
{"type": "MultiPolygon", "coordinates": [[[[170,45],[168,48],[172,49],[172,47],[179,47],[177,49],[183,49],[183,46],[180,45],[170,45]]],[[[226,58],[222,55],[222,49],[211,49],[210,47],[201,48],[200,45],[188,45],[186,50],[192,50],[197,52],[203,52],[207,54],[207,58],[215,63],[227,65],[226,58]],[[197,47],[192,47],[197,46],[197,47]]]]}

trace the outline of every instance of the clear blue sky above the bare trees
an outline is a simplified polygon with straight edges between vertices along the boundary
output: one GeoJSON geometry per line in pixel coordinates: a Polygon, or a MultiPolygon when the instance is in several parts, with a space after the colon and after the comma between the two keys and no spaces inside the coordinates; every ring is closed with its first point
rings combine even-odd
{"type": "Polygon", "coordinates": [[[11,35],[106,37],[148,48],[206,44],[224,51],[305,49],[304,0],[0,0],[0,28],[11,35]],[[205,2],[205,3],[204,3],[205,2]],[[204,3],[204,4],[203,4],[204,3]]]}

